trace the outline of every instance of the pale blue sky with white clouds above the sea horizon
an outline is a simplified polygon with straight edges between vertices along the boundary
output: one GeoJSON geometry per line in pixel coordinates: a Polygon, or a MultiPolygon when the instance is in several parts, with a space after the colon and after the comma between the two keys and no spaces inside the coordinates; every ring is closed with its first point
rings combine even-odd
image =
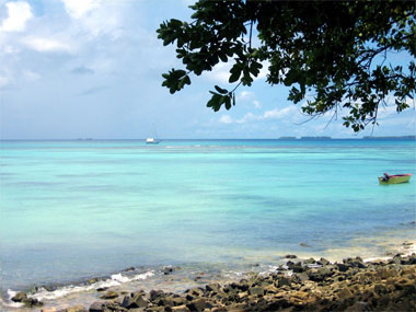
{"type": "MultiPolygon", "coordinates": [[[[288,88],[239,88],[236,106],[206,107],[215,84],[231,89],[220,63],[176,94],[162,73],[181,68],[157,28],[188,20],[187,0],[0,0],[1,139],[279,138],[415,135],[414,108],[379,112],[380,126],[356,135],[342,120],[316,120],[287,101],[288,88]]],[[[398,56],[401,57],[401,56],[398,56]]],[[[394,103],[390,99],[389,103],[394,103]]],[[[409,103],[414,107],[414,103],[409,103]]]]}

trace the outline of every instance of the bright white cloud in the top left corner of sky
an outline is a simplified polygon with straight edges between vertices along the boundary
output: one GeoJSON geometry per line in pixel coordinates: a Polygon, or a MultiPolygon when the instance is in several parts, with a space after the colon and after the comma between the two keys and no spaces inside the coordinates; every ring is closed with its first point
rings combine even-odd
{"type": "Polygon", "coordinates": [[[8,2],[8,18],[3,20],[0,32],[23,32],[33,18],[31,5],[24,1],[8,2]]]}

